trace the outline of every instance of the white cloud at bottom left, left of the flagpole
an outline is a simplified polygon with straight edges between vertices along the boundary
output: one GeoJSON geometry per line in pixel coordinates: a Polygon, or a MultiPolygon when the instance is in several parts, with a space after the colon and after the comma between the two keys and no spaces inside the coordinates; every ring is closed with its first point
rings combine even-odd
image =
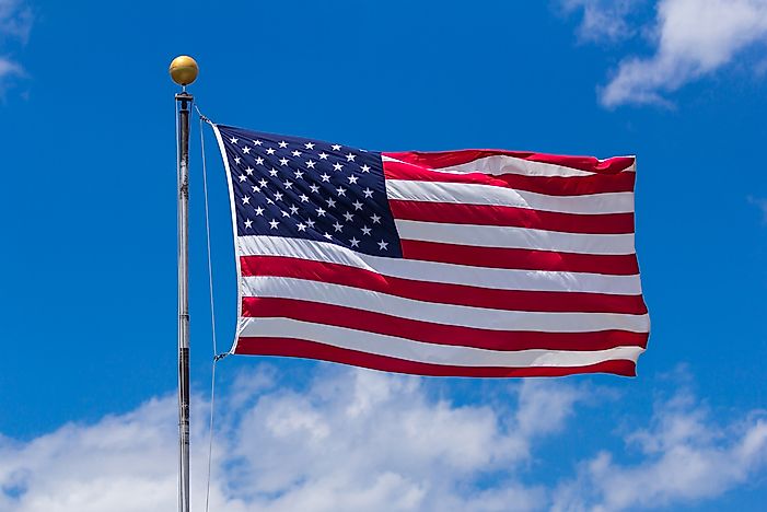
{"type": "Polygon", "coordinates": [[[0,510],[173,510],[174,412],[171,398],[153,399],[26,443],[0,439],[0,510]]]}

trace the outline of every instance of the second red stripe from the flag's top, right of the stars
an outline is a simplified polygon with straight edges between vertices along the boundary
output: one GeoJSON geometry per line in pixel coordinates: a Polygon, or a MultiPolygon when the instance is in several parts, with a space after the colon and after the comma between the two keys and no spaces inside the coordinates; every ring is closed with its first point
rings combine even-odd
{"type": "Polygon", "coordinates": [[[385,161],[387,179],[467,183],[528,190],[549,196],[583,196],[605,193],[634,191],[637,173],[594,174],[592,176],[525,176],[522,174],[489,175],[476,173],[443,173],[415,164],[385,161]]]}

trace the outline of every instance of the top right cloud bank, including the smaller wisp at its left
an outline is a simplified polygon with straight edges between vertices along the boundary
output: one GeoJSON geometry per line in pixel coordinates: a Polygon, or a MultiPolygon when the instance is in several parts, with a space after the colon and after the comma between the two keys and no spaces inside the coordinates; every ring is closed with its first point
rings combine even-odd
{"type": "Polygon", "coordinates": [[[566,9],[583,11],[582,39],[616,42],[641,35],[654,48],[649,57],[620,60],[600,89],[600,101],[606,107],[667,105],[669,93],[767,43],[767,0],[660,0],[649,25],[632,26],[627,16],[643,3],[563,0],[566,9]]]}

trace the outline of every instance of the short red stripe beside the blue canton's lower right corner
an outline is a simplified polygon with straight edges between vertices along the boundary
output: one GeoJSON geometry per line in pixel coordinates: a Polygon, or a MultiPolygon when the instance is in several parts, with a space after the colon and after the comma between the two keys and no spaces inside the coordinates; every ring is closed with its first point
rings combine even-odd
{"type": "Polygon", "coordinates": [[[639,274],[636,254],[591,255],[505,247],[475,247],[402,240],[403,257],[472,267],[521,270],[560,270],[567,272],[634,276],[639,274]]]}

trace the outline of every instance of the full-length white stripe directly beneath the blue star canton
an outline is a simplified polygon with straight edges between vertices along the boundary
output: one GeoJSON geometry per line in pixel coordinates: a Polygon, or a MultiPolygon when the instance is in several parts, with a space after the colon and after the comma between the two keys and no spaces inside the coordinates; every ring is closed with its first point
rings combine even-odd
{"type": "Polygon", "coordinates": [[[463,284],[498,290],[571,291],[638,295],[642,292],[638,275],[563,272],[469,267],[415,259],[370,256],[327,242],[280,236],[237,236],[237,255],[284,256],[361,268],[395,278],[463,284]]]}

